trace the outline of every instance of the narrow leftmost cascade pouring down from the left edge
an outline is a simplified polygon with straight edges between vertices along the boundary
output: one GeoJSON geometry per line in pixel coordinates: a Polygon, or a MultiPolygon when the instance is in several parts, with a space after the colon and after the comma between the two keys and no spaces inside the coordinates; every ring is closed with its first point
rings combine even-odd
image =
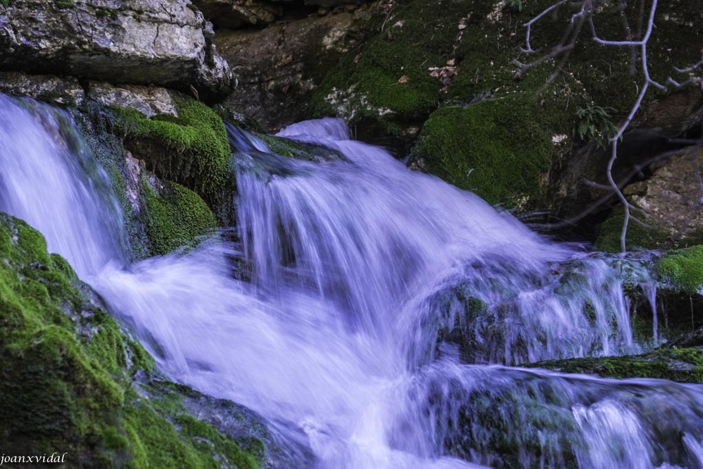
{"type": "Polygon", "coordinates": [[[0,210],[24,219],[87,280],[124,262],[122,214],[108,174],[72,118],[0,94],[0,210]]]}

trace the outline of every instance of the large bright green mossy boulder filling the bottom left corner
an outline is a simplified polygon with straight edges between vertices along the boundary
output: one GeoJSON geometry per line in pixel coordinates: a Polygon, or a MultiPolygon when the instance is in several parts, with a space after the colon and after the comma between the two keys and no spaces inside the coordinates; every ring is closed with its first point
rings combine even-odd
{"type": "Polygon", "coordinates": [[[66,453],[81,468],[259,467],[261,445],[251,454],[197,420],[177,389],[139,391],[153,359],[91,297],[41,234],[0,213],[4,453],[66,453]]]}

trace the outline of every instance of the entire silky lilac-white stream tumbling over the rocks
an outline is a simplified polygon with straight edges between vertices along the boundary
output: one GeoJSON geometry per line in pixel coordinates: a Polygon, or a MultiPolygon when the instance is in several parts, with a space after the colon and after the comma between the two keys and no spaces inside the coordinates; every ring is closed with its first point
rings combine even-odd
{"type": "Polygon", "coordinates": [[[283,158],[230,129],[238,243],[127,265],[70,118],[0,95],[0,210],[44,233],[170,378],[302,435],[316,468],[703,468],[703,386],[515,367],[646,347],[610,264],[340,121],[281,135],[328,150],[283,158]]]}

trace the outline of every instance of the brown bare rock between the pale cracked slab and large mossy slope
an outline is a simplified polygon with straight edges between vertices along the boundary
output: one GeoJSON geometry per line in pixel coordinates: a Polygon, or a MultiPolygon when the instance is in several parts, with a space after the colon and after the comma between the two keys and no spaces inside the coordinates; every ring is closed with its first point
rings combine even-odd
{"type": "Polygon", "coordinates": [[[358,8],[264,30],[219,30],[214,43],[238,75],[228,103],[269,130],[304,119],[312,91],[356,44],[368,14],[358,8]]]}

